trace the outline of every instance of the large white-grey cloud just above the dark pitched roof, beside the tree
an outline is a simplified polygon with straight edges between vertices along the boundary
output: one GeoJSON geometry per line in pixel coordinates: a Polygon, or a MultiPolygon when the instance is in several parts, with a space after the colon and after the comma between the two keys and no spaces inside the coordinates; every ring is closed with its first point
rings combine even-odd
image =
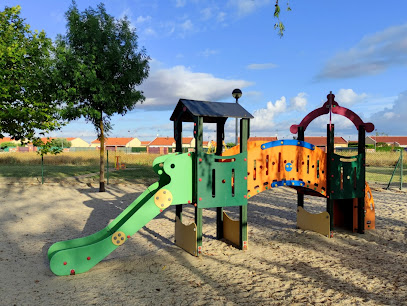
{"type": "MultiPolygon", "coordinates": [[[[156,64],[153,62],[152,66],[156,64]]],[[[137,108],[171,110],[181,98],[218,101],[229,98],[233,88],[250,85],[252,83],[245,80],[226,80],[209,73],[193,72],[185,66],[152,67],[149,78],[140,87],[146,101],[137,108]]]]}

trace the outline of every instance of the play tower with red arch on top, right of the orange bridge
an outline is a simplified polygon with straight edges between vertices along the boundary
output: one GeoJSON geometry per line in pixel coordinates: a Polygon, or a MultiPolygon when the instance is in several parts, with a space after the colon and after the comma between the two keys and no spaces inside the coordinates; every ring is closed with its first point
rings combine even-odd
{"type": "MultiPolygon", "coordinates": [[[[366,132],[372,132],[374,125],[365,123],[353,111],[339,106],[335,95],[330,92],[328,100],[322,107],[317,108],[304,117],[298,125],[292,125],[291,133],[298,134],[297,139],[304,141],[304,132],[308,125],[321,115],[329,114],[327,124],[327,156],[326,156],[326,211],[328,215],[321,215],[325,221],[329,219],[329,233],[332,236],[335,226],[351,227],[353,231],[364,233],[365,229],[373,229],[374,206],[369,186],[366,184],[366,132]],[[340,156],[334,152],[334,125],[331,123],[333,114],[341,115],[353,122],[358,130],[358,154],[355,156],[340,156]]],[[[306,188],[297,189],[298,197],[298,227],[321,232],[320,222],[316,215],[312,216],[304,210],[304,194],[316,195],[306,188]]],[[[326,224],[326,223],[325,223],[326,224]]],[[[326,233],[326,226],[322,225],[326,233]]]]}

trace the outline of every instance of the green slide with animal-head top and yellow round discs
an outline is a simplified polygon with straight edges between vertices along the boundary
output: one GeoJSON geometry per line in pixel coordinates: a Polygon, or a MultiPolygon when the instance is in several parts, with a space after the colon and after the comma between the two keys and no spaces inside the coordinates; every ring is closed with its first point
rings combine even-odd
{"type": "Polygon", "coordinates": [[[159,181],[108,226],[93,235],[51,245],[48,259],[54,274],[88,271],[165,208],[192,200],[192,154],[160,156],[155,159],[153,168],[160,175],[159,181]]]}

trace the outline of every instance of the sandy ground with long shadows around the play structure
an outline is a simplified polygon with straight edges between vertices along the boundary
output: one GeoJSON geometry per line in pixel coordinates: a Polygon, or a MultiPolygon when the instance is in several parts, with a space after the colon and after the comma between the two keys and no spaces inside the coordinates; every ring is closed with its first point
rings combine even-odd
{"type": "MultiPolygon", "coordinates": [[[[296,194],[279,188],[250,199],[246,252],[217,241],[215,211],[204,210],[204,255],[189,255],[173,243],[170,207],[89,272],[52,274],[52,243],[102,229],[144,189],[0,185],[0,304],[407,303],[407,193],[375,189],[376,230],[365,235],[337,231],[329,239],[296,229],[296,194]]],[[[305,205],[323,211],[325,201],[306,198],[305,205]]],[[[192,221],[192,207],[184,211],[192,221]]]]}

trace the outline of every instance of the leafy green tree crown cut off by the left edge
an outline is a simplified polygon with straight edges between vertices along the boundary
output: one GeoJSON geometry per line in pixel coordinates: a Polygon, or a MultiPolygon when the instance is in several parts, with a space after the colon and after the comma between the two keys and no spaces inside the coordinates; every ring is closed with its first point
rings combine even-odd
{"type": "Polygon", "coordinates": [[[0,138],[38,141],[60,128],[53,97],[52,42],[32,32],[19,16],[20,6],[0,11],[0,138]]]}

